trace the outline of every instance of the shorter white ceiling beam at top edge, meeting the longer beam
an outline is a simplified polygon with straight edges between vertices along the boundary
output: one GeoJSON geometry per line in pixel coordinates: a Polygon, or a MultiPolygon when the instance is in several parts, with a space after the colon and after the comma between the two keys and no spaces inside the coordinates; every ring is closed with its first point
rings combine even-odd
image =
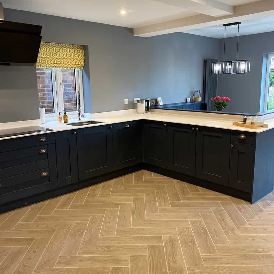
{"type": "Polygon", "coordinates": [[[234,7],[216,0],[154,0],[210,16],[224,16],[234,13],[234,7]]]}

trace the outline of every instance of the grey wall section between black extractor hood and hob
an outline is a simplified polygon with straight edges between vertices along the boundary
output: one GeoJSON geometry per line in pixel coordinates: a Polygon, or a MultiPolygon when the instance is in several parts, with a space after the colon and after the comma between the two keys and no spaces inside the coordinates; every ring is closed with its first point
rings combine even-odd
{"type": "Polygon", "coordinates": [[[40,118],[34,66],[0,66],[0,94],[0,123],[40,118]]]}

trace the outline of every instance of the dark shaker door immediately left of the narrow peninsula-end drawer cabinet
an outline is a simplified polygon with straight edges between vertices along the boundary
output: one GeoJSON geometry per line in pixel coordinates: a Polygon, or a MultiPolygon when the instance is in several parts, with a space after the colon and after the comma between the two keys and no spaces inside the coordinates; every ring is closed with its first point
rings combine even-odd
{"type": "Polygon", "coordinates": [[[196,177],[228,185],[230,130],[197,128],[196,177]]]}

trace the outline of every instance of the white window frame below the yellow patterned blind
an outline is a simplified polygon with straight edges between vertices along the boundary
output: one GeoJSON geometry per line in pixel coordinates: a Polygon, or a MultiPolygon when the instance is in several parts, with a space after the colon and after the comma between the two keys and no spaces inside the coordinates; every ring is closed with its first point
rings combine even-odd
{"type": "MultiPolygon", "coordinates": [[[[62,69],[51,69],[52,75],[52,95],[54,104],[54,113],[47,113],[46,122],[57,121],[59,112],[64,115],[64,101],[63,101],[63,84],[62,84],[62,69]]],[[[80,106],[81,112],[84,114],[84,91],[83,91],[83,75],[82,69],[75,69],[75,89],[76,89],[76,104],[77,111],[69,111],[67,115],[69,119],[78,118],[78,91],[80,92],[80,106]]]]}

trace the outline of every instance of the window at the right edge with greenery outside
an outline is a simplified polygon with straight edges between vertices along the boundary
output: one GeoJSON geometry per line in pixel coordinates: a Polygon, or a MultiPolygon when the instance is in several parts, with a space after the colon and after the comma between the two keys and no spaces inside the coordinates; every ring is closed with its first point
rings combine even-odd
{"type": "Polygon", "coordinates": [[[265,81],[265,106],[264,110],[274,109],[274,53],[269,53],[265,81]]]}

